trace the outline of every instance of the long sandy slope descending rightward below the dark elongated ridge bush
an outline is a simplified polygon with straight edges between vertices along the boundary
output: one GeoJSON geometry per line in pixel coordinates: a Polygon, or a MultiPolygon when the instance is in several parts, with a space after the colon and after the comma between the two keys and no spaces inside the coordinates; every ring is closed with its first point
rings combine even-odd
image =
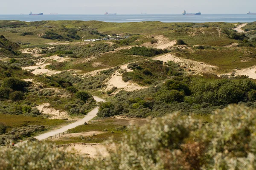
{"type": "Polygon", "coordinates": [[[201,73],[214,73],[218,67],[206,64],[204,62],[193,61],[191,59],[183,59],[176,57],[174,54],[164,54],[162,56],[155,57],[154,59],[161,60],[163,62],[173,61],[179,63],[189,74],[201,74],[201,73]]]}

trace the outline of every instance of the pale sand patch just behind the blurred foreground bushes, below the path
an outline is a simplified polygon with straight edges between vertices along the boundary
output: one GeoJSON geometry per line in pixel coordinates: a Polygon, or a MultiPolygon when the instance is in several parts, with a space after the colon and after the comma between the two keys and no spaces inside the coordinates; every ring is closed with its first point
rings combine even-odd
{"type": "Polygon", "coordinates": [[[115,149],[116,144],[90,144],[90,143],[71,143],[58,145],[58,148],[67,152],[76,150],[77,154],[87,155],[95,158],[97,156],[108,156],[108,149],[115,149]],[[107,148],[106,148],[107,147],[107,148]]]}

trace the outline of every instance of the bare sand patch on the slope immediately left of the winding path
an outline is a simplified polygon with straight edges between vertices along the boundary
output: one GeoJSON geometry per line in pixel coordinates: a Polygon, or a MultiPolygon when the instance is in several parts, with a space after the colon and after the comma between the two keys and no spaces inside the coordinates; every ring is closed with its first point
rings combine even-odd
{"type": "Polygon", "coordinates": [[[50,115],[51,117],[49,119],[70,119],[70,116],[67,112],[50,108],[50,105],[50,103],[44,103],[42,105],[36,106],[35,108],[37,108],[43,114],[50,115]]]}

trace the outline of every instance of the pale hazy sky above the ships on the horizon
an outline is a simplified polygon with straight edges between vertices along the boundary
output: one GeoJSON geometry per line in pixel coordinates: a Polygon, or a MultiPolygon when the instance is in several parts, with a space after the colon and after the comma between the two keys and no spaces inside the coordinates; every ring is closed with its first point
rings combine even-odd
{"type": "Polygon", "coordinates": [[[0,14],[243,14],[256,12],[256,0],[0,0],[0,14]]]}

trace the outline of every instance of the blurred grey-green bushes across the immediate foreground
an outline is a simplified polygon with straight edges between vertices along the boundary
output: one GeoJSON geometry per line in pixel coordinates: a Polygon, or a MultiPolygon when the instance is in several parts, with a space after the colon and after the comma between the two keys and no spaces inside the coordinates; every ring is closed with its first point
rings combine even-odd
{"type": "MultiPolygon", "coordinates": [[[[130,127],[105,158],[81,159],[43,142],[0,151],[0,169],[254,170],[256,110],[230,105],[210,123],[173,113],[130,127]],[[189,141],[189,142],[188,142],[189,141]]],[[[110,141],[111,142],[111,141],[110,141]]]]}

